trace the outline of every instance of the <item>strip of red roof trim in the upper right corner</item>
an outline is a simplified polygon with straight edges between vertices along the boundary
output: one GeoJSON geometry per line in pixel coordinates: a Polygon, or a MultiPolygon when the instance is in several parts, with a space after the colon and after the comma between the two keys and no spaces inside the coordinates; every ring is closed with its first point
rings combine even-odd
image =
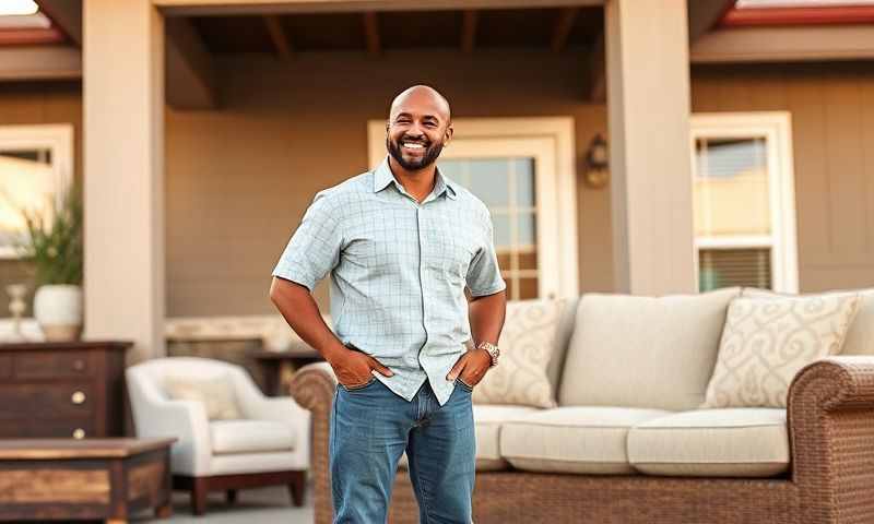
{"type": "Polygon", "coordinates": [[[830,25],[874,22],[874,5],[839,8],[746,8],[731,9],[722,17],[722,27],[751,25],[830,25]]]}

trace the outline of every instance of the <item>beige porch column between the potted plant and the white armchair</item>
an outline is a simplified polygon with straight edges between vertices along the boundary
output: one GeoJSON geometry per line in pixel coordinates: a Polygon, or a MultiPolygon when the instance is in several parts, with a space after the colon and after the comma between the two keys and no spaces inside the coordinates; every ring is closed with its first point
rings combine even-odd
{"type": "Polygon", "coordinates": [[[164,347],[164,21],[84,0],[85,336],[164,347]]]}

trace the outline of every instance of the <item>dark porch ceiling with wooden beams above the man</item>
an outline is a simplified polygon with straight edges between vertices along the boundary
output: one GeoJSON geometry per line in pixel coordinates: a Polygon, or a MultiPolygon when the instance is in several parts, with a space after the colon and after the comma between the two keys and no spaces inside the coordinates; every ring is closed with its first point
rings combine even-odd
{"type": "Polygon", "coordinates": [[[591,48],[603,28],[600,7],[294,13],[196,16],[212,53],[417,48],[591,48]],[[272,26],[272,28],[271,28],[272,26]],[[276,31],[279,26],[280,31],[276,31]],[[282,41],[277,44],[277,38],[282,41]]]}

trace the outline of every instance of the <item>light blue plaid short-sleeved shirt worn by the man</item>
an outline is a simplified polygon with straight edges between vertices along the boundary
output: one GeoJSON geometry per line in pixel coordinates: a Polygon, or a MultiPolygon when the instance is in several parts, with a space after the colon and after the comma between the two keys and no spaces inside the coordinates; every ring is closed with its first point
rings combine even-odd
{"type": "Polygon", "coordinates": [[[390,368],[373,373],[408,401],[430,380],[440,405],[471,338],[464,286],[473,296],[507,287],[485,204],[439,169],[417,203],[388,158],[316,193],[273,275],[312,291],[329,271],[338,338],[390,368]]]}

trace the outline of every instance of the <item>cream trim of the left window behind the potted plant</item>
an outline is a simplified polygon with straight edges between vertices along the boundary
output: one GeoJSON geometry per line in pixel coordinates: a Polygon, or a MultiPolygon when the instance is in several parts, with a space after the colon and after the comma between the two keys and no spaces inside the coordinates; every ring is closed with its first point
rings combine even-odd
{"type": "MultiPolygon", "coordinates": [[[[0,152],[9,150],[49,150],[55,172],[58,204],[73,180],[73,126],[0,126],[0,152]]],[[[11,246],[0,246],[0,259],[17,259],[11,246]]]]}

